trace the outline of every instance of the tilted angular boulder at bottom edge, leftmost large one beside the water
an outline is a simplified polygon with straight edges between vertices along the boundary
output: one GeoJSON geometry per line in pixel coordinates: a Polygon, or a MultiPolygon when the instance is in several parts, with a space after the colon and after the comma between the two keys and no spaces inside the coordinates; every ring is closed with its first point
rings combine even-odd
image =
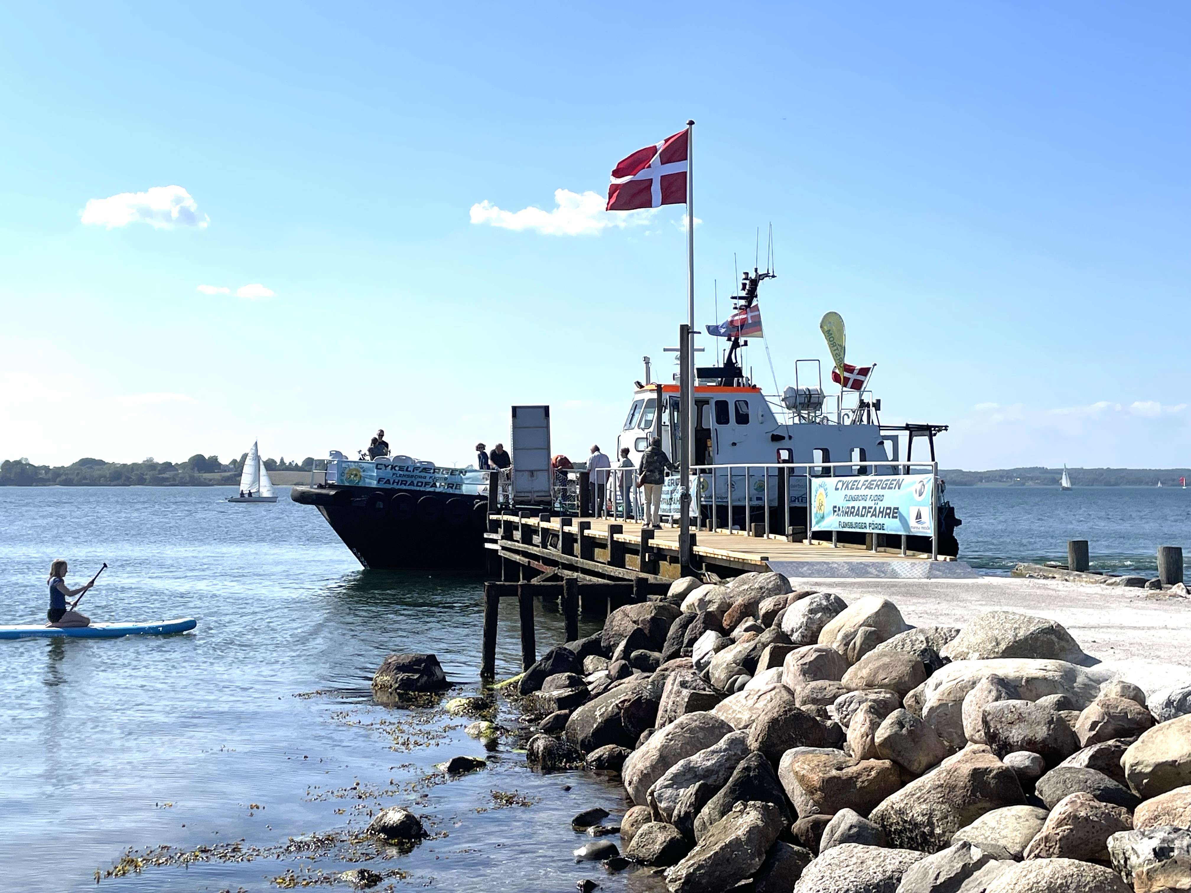
{"type": "Polygon", "coordinates": [[[729,889],[756,873],[781,829],[781,813],[772,804],[737,804],[671,868],[666,885],[671,893],[729,889]]]}

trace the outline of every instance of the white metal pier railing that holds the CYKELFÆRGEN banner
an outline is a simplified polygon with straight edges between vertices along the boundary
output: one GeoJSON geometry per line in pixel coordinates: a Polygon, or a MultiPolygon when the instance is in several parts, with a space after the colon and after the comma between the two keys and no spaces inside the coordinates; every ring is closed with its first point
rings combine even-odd
{"type": "MultiPolygon", "coordinates": [[[[807,524],[805,525],[805,543],[811,544],[812,525],[811,516],[811,488],[817,479],[822,477],[866,477],[873,475],[931,475],[934,479],[934,500],[930,505],[930,552],[931,557],[939,556],[939,463],[937,462],[912,462],[894,460],[863,460],[850,462],[734,462],[729,464],[706,464],[691,467],[691,508],[701,517],[703,510],[709,508],[709,529],[721,530],[721,507],[727,513],[725,532],[737,532],[734,529],[734,510],[741,508],[746,520],[746,530],[738,532],[752,532],[747,530],[753,510],[763,507],[761,516],[763,520],[763,535],[771,535],[771,505],[780,506],[785,502],[785,520],[782,532],[788,529],[790,507],[800,505],[805,499],[807,524]],[[878,470],[881,469],[881,470],[878,470]],[[743,483],[737,499],[737,482],[743,483]],[[756,493],[754,493],[756,491],[756,493]]],[[[675,477],[676,475],[672,475],[675,477]]],[[[877,536],[872,537],[873,551],[877,550],[877,536]]],[[[838,547],[838,533],[831,531],[831,545],[838,547]]],[[[906,552],[906,536],[902,535],[902,554],[906,552]]]]}

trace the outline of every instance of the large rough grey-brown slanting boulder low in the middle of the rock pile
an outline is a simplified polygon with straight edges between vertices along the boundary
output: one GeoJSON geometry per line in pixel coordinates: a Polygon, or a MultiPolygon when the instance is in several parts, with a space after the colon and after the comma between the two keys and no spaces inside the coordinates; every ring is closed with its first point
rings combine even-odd
{"type": "Polygon", "coordinates": [[[1012,769],[992,754],[965,751],[887,797],[869,818],[890,845],[937,853],[984,813],[1024,801],[1012,769]]]}

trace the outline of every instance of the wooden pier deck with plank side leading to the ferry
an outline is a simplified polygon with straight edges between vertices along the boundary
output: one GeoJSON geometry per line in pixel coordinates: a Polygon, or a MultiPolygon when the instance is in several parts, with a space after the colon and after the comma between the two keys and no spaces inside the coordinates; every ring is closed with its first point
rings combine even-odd
{"type": "MultiPolygon", "coordinates": [[[[560,518],[549,514],[490,514],[486,547],[500,558],[501,579],[532,580],[542,574],[592,580],[643,579],[646,585],[669,583],[682,575],[676,526],[644,529],[636,522],[607,518],[560,518]]],[[[791,541],[779,536],[748,536],[717,530],[692,531],[690,570],[727,577],[759,570],[787,576],[928,577],[974,576],[962,562],[929,555],[902,555],[899,548],[830,541],[791,541]],[[950,567],[948,567],[950,566],[950,567]],[[793,572],[793,573],[791,573],[793,572]]]]}

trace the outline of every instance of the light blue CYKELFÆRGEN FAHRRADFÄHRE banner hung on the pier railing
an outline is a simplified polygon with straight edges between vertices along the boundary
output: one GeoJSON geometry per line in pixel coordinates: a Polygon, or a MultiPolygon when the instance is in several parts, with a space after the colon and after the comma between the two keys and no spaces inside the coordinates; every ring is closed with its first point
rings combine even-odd
{"type": "Polygon", "coordinates": [[[858,475],[811,485],[813,530],[931,536],[935,476],[858,475]]]}

